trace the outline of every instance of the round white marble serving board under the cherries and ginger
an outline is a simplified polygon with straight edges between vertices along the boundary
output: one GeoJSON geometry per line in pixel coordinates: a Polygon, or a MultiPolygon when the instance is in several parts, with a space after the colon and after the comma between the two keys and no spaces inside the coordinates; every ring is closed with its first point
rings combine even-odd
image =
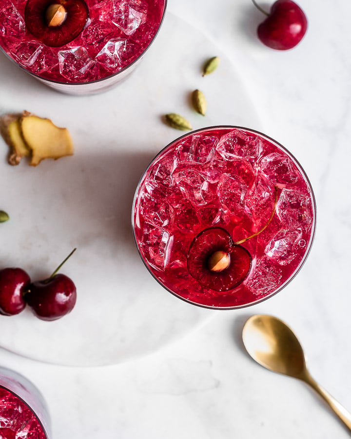
{"type": "Polygon", "coordinates": [[[0,54],[0,113],[24,109],[69,128],[75,155],[12,167],[0,141],[0,209],[11,217],[0,225],[0,267],[22,267],[33,280],[44,279],[77,247],[61,272],[76,283],[78,301],[54,322],[29,310],[1,317],[0,346],[57,364],[114,364],[154,351],[214,316],[151,277],[133,240],[131,206],[149,162],[182,134],[163,124],[163,114],[180,113],[194,129],[260,128],[237,68],[218,47],[167,14],[137,71],[117,88],[85,97],[45,87],[0,54]],[[220,67],[202,78],[203,61],[212,56],[220,56],[220,67]],[[189,106],[195,88],[207,96],[205,118],[189,106]]]}

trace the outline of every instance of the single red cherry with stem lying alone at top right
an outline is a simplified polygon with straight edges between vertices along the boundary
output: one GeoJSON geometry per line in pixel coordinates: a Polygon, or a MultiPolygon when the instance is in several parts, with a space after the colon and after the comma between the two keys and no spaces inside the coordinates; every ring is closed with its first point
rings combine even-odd
{"type": "Polygon", "coordinates": [[[292,0],[277,0],[269,13],[252,0],[267,18],[257,28],[259,40],[276,50],[295,47],[307,31],[307,18],[303,10],[292,0]]]}

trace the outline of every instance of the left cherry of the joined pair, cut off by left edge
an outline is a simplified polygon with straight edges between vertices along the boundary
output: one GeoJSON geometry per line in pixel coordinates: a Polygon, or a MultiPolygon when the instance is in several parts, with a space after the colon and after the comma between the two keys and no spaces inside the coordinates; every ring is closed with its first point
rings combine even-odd
{"type": "Polygon", "coordinates": [[[23,298],[30,278],[21,268],[0,270],[0,314],[14,316],[24,310],[23,298]]]}

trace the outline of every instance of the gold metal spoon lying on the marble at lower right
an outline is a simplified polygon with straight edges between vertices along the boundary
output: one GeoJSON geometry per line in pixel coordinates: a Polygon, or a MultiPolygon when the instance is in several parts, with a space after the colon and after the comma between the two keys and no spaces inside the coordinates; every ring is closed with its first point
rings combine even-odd
{"type": "Polygon", "coordinates": [[[242,339],[257,363],[309,384],[351,430],[351,414],[311,377],[302,346],[286,323],[273,316],[252,316],[244,325],[242,339]]]}

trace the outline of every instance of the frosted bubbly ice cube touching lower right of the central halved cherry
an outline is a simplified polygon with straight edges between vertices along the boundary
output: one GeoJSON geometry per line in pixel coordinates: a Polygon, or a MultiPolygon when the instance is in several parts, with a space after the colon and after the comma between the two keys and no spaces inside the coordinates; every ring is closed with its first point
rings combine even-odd
{"type": "Polygon", "coordinates": [[[257,296],[273,293],[280,285],[281,269],[266,258],[256,261],[252,273],[245,283],[257,296]]]}

